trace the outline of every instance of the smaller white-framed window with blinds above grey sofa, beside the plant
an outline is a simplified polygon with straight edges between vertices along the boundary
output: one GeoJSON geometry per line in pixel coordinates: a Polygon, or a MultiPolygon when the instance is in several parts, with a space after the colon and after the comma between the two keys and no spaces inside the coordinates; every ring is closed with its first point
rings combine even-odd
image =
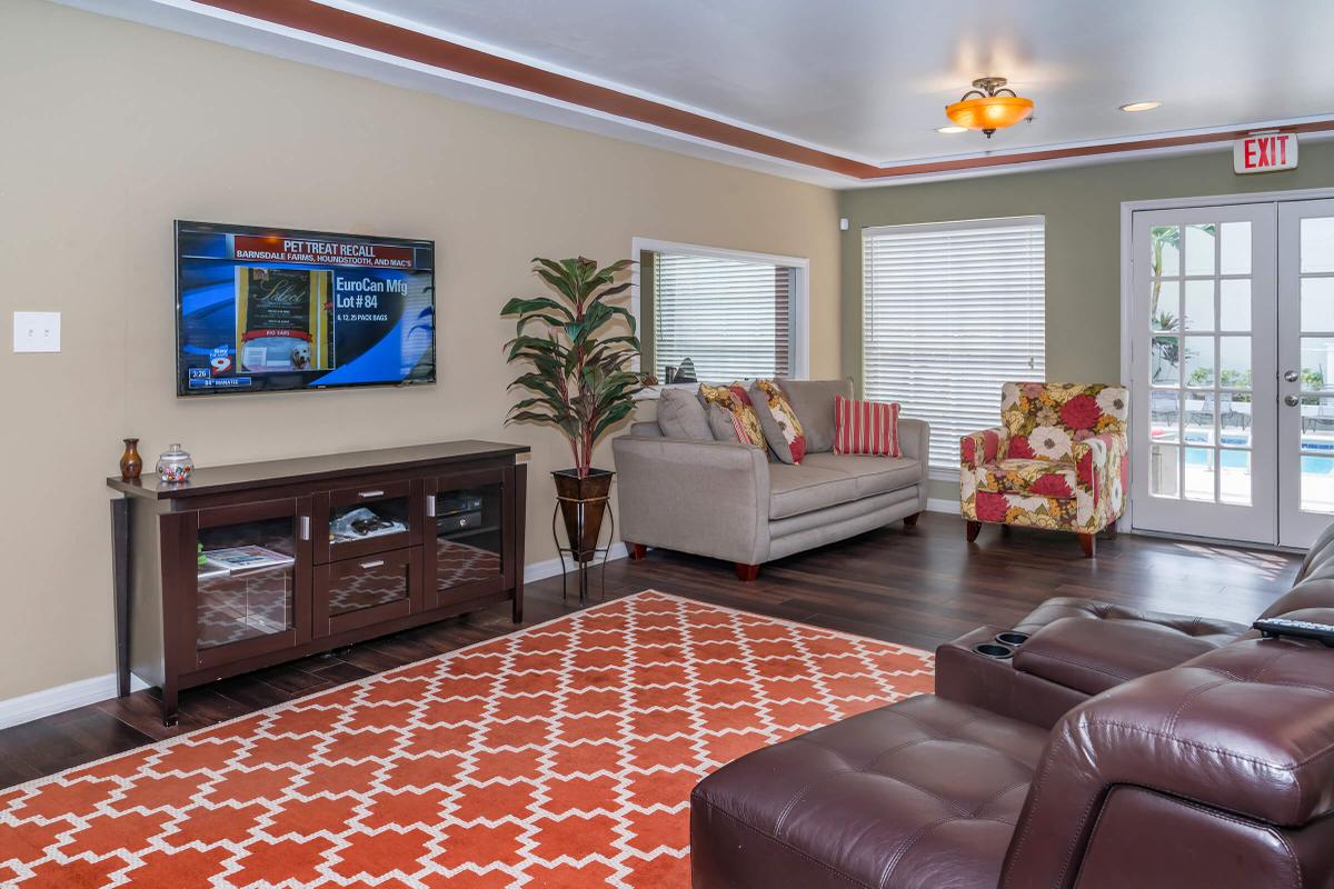
{"type": "Polygon", "coordinates": [[[654,253],[654,372],[690,359],[706,383],[792,372],[795,269],[654,253]]]}

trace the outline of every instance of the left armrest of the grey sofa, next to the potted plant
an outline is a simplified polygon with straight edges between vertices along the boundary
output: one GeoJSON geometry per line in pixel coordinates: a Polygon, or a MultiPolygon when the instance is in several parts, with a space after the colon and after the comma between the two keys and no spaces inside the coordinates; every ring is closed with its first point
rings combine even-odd
{"type": "Polygon", "coordinates": [[[768,557],[768,458],[739,441],[620,436],[620,538],[758,565],[768,557]]]}

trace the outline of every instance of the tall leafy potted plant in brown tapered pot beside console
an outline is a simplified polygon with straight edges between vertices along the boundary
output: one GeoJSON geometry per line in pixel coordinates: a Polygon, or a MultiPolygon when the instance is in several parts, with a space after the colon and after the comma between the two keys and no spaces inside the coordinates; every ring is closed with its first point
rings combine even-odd
{"type": "Polygon", "coordinates": [[[639,355],[635,319],[618,305],[630,281],[616,279],[630,260],[598,268],[594,260],[534,260],[534,273],[552,296],[512,299],[502,317],[518,317],[508,361],[528,371],[510,384],[524,389],[506,423],[556,427],[570,443],[575,465],[552,474],[574,558],[591,561],[611,489],[610,469],[592,468],[592,450],[634,409],[643,375],[631,371],[639,355]],[[619,320],[618,320],[619,319],[619,320]],[[540,333],[530,328],[540,327],[540,333]],[[620,328],[620,329],[618,329],[620,328]]]}

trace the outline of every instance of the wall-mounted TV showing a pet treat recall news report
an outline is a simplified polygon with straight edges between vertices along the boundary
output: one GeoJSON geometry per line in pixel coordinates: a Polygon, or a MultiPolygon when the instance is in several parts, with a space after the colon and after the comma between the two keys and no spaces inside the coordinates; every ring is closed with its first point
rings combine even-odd
{"type": "Polygon", "coordinates": [[[435,243],[176,223],[176,393],[435,383],[435,243]]]}

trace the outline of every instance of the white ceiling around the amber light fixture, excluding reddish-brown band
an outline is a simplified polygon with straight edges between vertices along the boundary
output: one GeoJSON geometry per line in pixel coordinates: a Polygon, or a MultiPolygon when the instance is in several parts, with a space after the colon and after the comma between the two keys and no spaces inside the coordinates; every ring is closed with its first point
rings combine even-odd
{"type": "MultiPolygon", "coordinates": [[[[608,120],[189,0],[64,0],[798,179],[851,180],[608,120]]],[[[1334,0],[320,0],[855,160],[904,161],[1334,116],[1334,0]],[[940,135],[974,77],[1031,124],[940,135]],[[1162,101],[1129,115],[1118,105],[1162,101]]],[[[875,183],[870,183],[875,184],[875,183]]]]}

